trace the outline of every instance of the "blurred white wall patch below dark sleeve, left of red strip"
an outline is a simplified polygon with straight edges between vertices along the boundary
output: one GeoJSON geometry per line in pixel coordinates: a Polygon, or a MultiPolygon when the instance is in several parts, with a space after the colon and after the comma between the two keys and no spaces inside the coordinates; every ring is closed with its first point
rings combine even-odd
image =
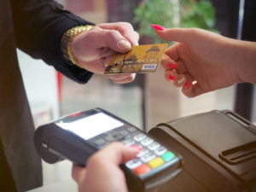
{"type": "Polygon", "coordinates": [[[55,69],[19,49],[18,59],[36,126],[59,117],[55,69]]]}

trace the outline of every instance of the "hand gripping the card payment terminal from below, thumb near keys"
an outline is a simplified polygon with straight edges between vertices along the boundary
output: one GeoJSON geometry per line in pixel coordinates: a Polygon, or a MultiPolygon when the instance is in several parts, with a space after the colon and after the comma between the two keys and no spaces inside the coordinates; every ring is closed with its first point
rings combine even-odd
{"type": "Polygon", "coordinates": [[[73,166],[72,176],[79,192],[128,192],[119,164],[136,158],[138,152],[122,143],[111,143],[90,157],[86,169],[73,166]]]}

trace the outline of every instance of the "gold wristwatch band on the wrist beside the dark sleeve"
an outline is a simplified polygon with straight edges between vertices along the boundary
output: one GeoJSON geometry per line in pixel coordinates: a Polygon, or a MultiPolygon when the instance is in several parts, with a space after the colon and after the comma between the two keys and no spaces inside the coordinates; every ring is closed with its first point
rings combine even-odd
{"type": "Polygon", "coordinates": [[[75,55],[73,54],[73,49],[71,43],[73,38],[75,38],[79,33],[89,31],[93,26],[75,26],[67,32],[65,32],[61,38],[61,50],[63,53],[64,58],[67,61],[72,61],[74,65],[83,68],[80,64],[75,55]]]}

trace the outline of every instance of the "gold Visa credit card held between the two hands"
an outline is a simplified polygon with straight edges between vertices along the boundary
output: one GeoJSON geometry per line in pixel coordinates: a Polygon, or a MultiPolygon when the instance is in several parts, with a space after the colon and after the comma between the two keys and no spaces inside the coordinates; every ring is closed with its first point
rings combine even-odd
{"type": "Polygon", "coordinates": [[[168,44],[145,44],[132,46],[127,53],[115,53],[105,74],[154,73],[168,44]]]}

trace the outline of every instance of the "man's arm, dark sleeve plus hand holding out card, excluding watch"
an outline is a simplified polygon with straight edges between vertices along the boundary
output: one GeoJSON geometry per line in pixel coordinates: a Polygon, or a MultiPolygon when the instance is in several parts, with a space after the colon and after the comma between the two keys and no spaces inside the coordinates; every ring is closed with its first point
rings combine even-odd
{"type": "MultiPolygon", "coordinates": [[[[113,52],[126,52],[138,42],[131,24],[100,24],[71,38],[79,67],[64,58],[61,38],[73,26],[92,25],[63,9],[53,0],[12,0],[17,45],[34,58],[41,58],[79,83],[92,73],[103,73],[113,52]],[[122,42],[122,44],[120,44],[122,42]]],[[[108,75],[114,83],[128,83],[135,74],[108,75]]]]}

